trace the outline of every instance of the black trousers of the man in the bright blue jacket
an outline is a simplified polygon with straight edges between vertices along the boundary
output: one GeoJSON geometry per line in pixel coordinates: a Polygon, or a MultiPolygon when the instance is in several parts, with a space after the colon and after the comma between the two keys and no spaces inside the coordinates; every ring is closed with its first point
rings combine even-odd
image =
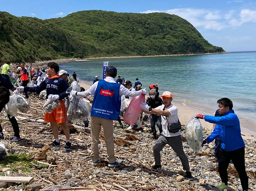
{"type": "Polygon", "coordinates": [[[232,160],[238,172],[243,190],[248,190],[248,176],[245,171],[245,147],[233,151],[219,149],[219,175],[223,183],[227,185],[227,167],[232,160]]]}

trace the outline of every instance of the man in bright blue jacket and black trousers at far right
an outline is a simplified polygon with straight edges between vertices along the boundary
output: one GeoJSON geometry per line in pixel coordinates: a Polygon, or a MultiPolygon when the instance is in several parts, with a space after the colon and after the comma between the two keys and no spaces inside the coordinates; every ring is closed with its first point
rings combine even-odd
{"type": "MultiPolygon", "coordinates": [[[[209,123],[216,124],[214,131],[203,141],[203,144],[210,143],[218,136],[221,141],[219,157],[219,175],[222,184],[218,186],[220,190],[228,187],[227,167],[232,160],[236,171],[239,174],[243,190],[248,190],[248,177],[245,171],[245,143],[241,136],[241,128],[238,116],[234,114],[233,102],[228,98],[217,101],[219,114],[221,117],[198,114],[196,118],[204,119],[209,123]]],[[[203,145],[202,144],[202,145],[203,145]]]]}

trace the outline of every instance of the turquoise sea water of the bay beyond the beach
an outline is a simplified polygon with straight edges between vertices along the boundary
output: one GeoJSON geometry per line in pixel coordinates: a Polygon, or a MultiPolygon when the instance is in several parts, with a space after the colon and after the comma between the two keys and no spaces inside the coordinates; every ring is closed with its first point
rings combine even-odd
{"type": "MultiPolygon", "coordinates": [[[[197,110],[214,113],[216,101],[228,97],[240,121],[255,127],[256,52],[106,61],[121,78],[134,84],[138,77],[147,89],[158,83],[160,93],[171,91],[173,102],[197,110]]],[[[103,60],[67,63],[60,68],[71,75],[76,71],[80,80],[93,81],[96,75],[102,78],[103,60]]]]}

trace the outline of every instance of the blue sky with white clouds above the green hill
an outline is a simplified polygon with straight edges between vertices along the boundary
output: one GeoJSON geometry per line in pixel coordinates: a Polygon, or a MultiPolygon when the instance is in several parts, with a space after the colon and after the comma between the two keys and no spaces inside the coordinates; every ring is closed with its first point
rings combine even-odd
{"type": "Polygon", "coordinates": [[[175,14],[187,19],[211,44],[226,51],[256,50],[255,0],[0,0],[0,11],[40,19],[95,9],[175,14]]]}

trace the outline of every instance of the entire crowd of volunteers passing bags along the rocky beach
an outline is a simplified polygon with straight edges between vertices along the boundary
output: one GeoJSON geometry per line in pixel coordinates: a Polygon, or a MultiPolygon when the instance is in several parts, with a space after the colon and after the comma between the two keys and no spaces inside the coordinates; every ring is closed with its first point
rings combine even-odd
{"type": "MultiPolygon", "coordinates": [[[[2,63],[0,61],[0,63],[2,63]]],[[[14,94],[24,92],[25,98],[28,99],[28,92],[39,94],[46,90],[46,99],[51,95],[53,101],[59,100],[60,106],[53,109],[51,113],[45,113],[44,121],[49,122],[52,127],[54,141],[53,147],[60,147],[60,139],[58,136],[58,126],[60,124],[66,136],[65,150],[71,149],[71,140],[68,123],[67,110],[70,107],[70,99],[86,98],[94,95],[91,109],[91,158],[93,165],[100,162],[99,157],[99,136],[101,127],[103,127],[104,141],[107,147],[107,155],[109,167],[118,167],[120,164],[116,160],[114,151],[114,130],[113,121],[118,121],[121,128],[124,128],[120,115],[124,115],[129,107],[132,98],[141,94],[148,95],[144,102],[140,103],[142,112],[137,116],[136,126],[129,124],[128,130],[133,128],[141,128],[142,113],[150,115],[150,126],[152,129],[153,139],[156,140],[153,148],[155,165],[153,171],[160,171],[161,166],[161,150],[168,144],[177,156],[179,156],[185,178],[192,179],[190,172],[188,157],[183,150],[183,143],[180,135],[181,123],[178,117],[178,109],[172,104],[173,94],[170,91],[164,91],[161,96],[158,92],[158,84],[149,85],[149,91],[142,89],[142,83],[138,78],[135,83],[125,80],[117,76],[117,69],[114,66],[108,66],[106,69],[106,78],[99,80],[95,76],[92,86],[85,90],[82,87],[79,90],[67,92],[72,82],[78,81],[77,74],[74,72],[72,77],[67,71],[60,70],[59,65],[54,62],[47,64],[47,69],[37,68],[33,70],[32,65],[29,67],[17,64],[15,75],[10,71],[10,62],[6,61],[2,64],[2,74],[0,75],[0,112],[10,100],[10,91],[14,94]],[[30,74],[30,78],[29,75],[30,74]],[[10,78],[18,78],[15,84],[11,83],[10,78]],[[21,81],[20,85],[17,85],[21,81]],[[34,82],[33,82],[34,81],[34,82]],[[30,83],[34,85],[29,85],[30,83]],[[16,88],[16,86],[18,86],[16,88]],[[157,136],[157,129],[160,136],[157,136]]],[[[240,122],[238,116],[233,110],[233,103],[228,98],[222,98],[217,101],[218,110],[215,116],[196,115],[196,118],[203,119],[206,122],[214,124],[214,130],[202,143],[202,146],[216,140],[215,154],[219,165],[219,175],[222,184],[218,186],[220,190],[228,187],[227,168],[232,160],[236,170],[238,171],[243,190],[248,190],[248,177],[245,170],[245,143],[241,136],[240,122]]],[[[7,115],[14,130],[14,138],[11,142],[21,140],[20,130],[17,120],[14,116],[7,115]]],[[[144,115],[145,117],[145,115],[144,115]]],[[[89,126],[88,118],[84,120],[85,127],[89,126]]],[[[3,131],[0,125],[0,139],[3,139],[3,131]]]]}

